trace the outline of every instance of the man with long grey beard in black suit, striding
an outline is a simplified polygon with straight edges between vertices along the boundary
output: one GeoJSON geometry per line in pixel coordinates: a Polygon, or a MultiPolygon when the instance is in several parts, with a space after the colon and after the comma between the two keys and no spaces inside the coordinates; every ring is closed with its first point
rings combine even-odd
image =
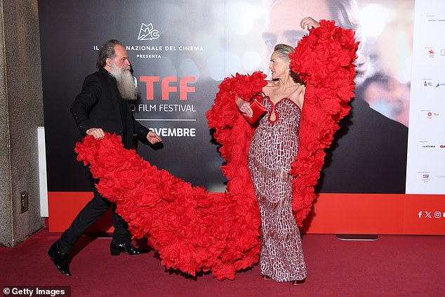
{"type": "MultiPolygon", "coordinates": [[[[135,121],[129,109],[126,100],[135,100],[138,96],[130,65],[124,46],[114,39],[108,41],[99,51],[96,65],[98,71],[86,77],[81,93],[71,105],[74,121],[82,133],[94,136],[95,139],[103,138],[105,132],[116,133],[122,137],[122,143],[127,149],[132,147],[133,134],[146,138],[152,144],[161,141],[156,133],[135,121]]],[[[116,213],[116,206],[94,189],[93,199],[48,250],[48,256],[53,260],[55,267],[64,275],[71,275],[67,263],[69,252],[82,233],[102,216],[109,206],[113,207],[114,232],[110,244],[112,256],[119,256],[120,253],[145,253],[131,244],[128,225],[116,213]]]]}

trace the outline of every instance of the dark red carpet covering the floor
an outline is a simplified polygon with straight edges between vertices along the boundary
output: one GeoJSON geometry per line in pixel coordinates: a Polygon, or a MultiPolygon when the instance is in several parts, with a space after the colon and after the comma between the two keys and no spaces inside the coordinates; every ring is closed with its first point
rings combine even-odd
{"type": "Polygon", "coordinates": [[[301,286],[263,280],[258,265],[234,281],[187,277],[166,270],[155,251],[110,256],[111,239],[88,236],[73,251],[72,277],[65,277],[46,255],[59,236],[44,228],[12,249],[1,247],[1,285],[71,286],[72,296],[445,296],[445,236],[363,242],[303,235],[309,276],[301,286]]]}

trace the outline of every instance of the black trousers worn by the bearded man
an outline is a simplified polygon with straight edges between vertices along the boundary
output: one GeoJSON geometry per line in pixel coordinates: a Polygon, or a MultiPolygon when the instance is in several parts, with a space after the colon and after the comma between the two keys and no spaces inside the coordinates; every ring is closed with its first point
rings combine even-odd
{"type": "Polygon", "coordinates": [[[116,213],[116,204],[109,202],[107,199],[100,196],[99,192],[94,189],[94,197],[88,204],[82,209],[76,218],[72,221],[71,225],[62,236],[56,242],[56,245],[60,251],[69,253],[74,248],[82,233],[84,233],[88,227],[104,214],[109,207],[113,207],[113,239],[112,242],[118,244],[125,244],[131,242],[131,234],[128,232],[128,224],[126,221],[116,213]]]}

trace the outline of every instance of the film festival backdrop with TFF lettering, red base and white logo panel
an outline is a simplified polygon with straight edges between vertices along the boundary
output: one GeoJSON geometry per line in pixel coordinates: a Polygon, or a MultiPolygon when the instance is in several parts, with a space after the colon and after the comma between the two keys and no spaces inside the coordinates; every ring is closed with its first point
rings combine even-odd
{"type": "Polygon", "coordinates": [[[354,29],[361,46],[352,112],[327,152],[303,231],[445,234],[444,77],[434,70],[445,60],[437,38],[444,4],[417,2],[40,0],[51,231],[64,230],[92,197],[91,175],[76,161],[82,136],[69,105],[95,72],[105,41],[126,46],[140,92],[131,103],[135,119],[163,138],[161,147],[138,143],[138,154],[192,185],[223,192],[223,159],[205,117],[218,84],[237,72],[269,74],[273,46],[296,45],[307,34],[301,18],[312,16],[354,29]],[[423,36],[413,39],[419,25],[423,36]]]}

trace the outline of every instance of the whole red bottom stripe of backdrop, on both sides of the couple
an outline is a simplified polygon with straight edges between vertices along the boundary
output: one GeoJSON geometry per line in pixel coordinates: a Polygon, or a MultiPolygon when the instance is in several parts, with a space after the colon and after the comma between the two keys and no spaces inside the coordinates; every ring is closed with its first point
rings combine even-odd
{"type": "MultiPolygon", "coordinates": [[[[63,232],[93,192],[48,192],[49,230],[63,232]]],[[[88,232],[112,232],[111,212],[88,232]]],[[[445,235],[445,195],[317,194],[303,233],[445,235]]]]}

